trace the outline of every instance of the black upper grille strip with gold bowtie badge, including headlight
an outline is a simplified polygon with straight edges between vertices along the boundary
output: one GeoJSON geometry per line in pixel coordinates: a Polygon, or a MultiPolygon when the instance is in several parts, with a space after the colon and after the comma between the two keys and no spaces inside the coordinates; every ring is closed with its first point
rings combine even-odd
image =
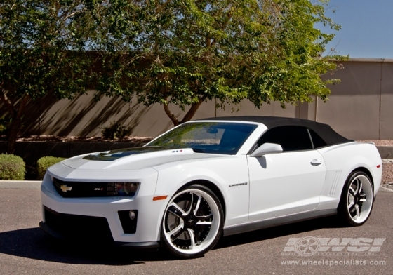
{"type": "MultiPolygon", "coordinates": [[[[65,182],[53,177],[53,186],[63,198],[86,198],[102,196],[134,196],[134,189],[138,188],[138,182],[65,182]],[[119,190],[119,185],[133,185],[136,187],[130,192],[119,190]]],[[[128,186],[127,186],[128,187],[128,186]]],[[[130,187],[128,187],[130,188],[130,187]]]]}

